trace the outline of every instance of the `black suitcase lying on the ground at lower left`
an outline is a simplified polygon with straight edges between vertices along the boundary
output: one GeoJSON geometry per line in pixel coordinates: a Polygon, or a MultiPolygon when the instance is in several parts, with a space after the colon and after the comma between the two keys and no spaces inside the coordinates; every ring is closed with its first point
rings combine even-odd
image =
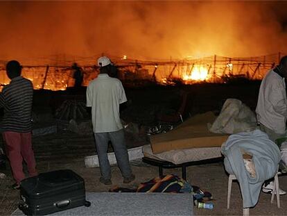
{"type": "Polygon", "coordinates": [[[84,179],[70,169],[24,179],[20,184],[20,194],[19,209],[25,215],[48,215],[91,204],[86,201],[84,179]]]}

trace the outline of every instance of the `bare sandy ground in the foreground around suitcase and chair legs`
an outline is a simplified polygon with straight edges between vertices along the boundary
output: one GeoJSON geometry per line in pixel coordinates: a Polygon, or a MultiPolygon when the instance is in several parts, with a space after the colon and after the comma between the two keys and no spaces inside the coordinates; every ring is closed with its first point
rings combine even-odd
{"type": "MultiPolygon", "coordinates": [[[[139,183],[148,181],[157,176],[157,168],[141,163],[140,161],[132,162],[132,170],[137,176],[136,180],[130,184],[123,184],[121,173],[118,167],[112,167],[112,186],[99,183],[99,169],[85,168],[83,160],[73,160],[71,163],[51,163],[49,160],[38,162],[37,167],[40,172],[46,172],[53,169],[72,169],[85,179],[87,192],[107,192],[114,185],[125,188],[137,188],[139,183]]],[[[173,173],[181,175],[180,169],[166,169],[165,174],[173,173]]],[[[17,209],[19,201],[19,191],[6,188],[13,183],[12,178],[8,177],[1,180],[1,210],[0,215],[10,215],[17,209]]],[[[211,192],[214,197],[214,209],[195,209],[195,215],[242,215],[242,199],[237,183],[233,183],[231,208],[227,210],[227,174],[225,174],[223,164],[215,163],[210,165],[198,165],[187,168],[187,180],[192,185],[198,185],[200,188],[211,192]]],[[[279,177],[280,187],[287,190],[287,176],[279,177]]],[[[259,203],[250,210],[250,215],[287,215],[287,195],[281,196],[281,208],[277,208],[276,202],[270,203],[270,194],[261,192],[259,203]]],[[[191,203],[192,205],[192,203],[191,203]]]]}

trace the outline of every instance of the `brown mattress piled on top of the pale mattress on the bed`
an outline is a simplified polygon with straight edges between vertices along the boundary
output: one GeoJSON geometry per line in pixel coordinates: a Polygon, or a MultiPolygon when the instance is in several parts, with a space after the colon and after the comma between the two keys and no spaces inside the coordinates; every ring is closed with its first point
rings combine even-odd
{"type": "Polygon", "coordinates": [[[209,131],[207,124],[212,124],[215,119],[216,116],[212,112],[195,115],[168,133],[151,135],[150,145],[153,153],[178,149],[221,147],[229,135],[209,131]]]}

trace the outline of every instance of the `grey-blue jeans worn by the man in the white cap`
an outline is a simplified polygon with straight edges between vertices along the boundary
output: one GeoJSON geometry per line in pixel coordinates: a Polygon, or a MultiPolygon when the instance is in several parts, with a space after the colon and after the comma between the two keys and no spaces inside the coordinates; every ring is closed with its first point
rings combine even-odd
{"type": "Polygon", "coordinates": [[[116,156],[116,163],[121,169],[121,174],[124,178],[129,178],[132,175],[132,169],[128,159],[128,149],[125,146],[125,136],[123,129],[120,131],[107,133],[94,133],[96,140],[96,151],[98,152],[98,162],[100,164],[101,176],[105,179],[111,178],[111,168],[107,159],[108,142],[111,140],[116,156]]]}

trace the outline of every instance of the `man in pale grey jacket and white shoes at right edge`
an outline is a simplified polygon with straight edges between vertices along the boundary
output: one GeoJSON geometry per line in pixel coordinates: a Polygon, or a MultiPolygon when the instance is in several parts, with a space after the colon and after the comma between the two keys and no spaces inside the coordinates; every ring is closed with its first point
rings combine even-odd
{"type": "MultiPolygon", "coordinates": [[[[264,76],[259,90],[256,106],[260,130],[267,133],[275,142],[286,135],[287,99],[285,78],[287,77],[287,56],[281,58],[279,65],[264,76]]],[[[271,192],[273,182],[263,185],[263,192],[271,192]]],[[[279,190],[280,194],[286,194],[279,190]]]]}

